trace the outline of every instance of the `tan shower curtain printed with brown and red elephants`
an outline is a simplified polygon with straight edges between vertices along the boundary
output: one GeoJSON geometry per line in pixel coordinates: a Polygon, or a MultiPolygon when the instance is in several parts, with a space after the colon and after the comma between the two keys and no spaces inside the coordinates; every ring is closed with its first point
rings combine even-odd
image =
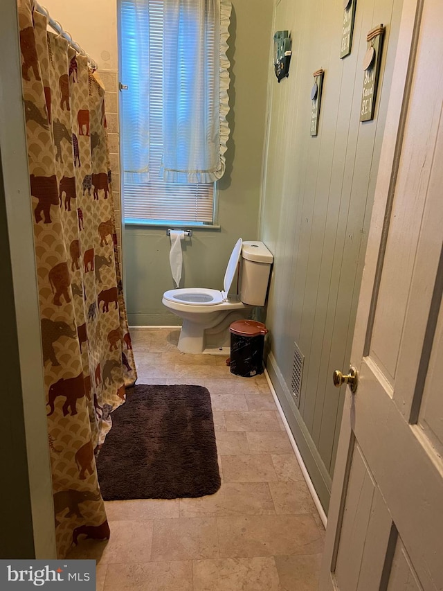
{"type": "Polygon", "coordinates": [[[136,368],[118,266],[105,89],[18,0],[55,531],[109,538],[95,454],[136,368]]]}

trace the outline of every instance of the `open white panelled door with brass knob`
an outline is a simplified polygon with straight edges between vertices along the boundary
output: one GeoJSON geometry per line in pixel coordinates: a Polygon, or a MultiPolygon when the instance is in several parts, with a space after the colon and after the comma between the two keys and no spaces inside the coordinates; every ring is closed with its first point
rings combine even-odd
{"type": "Polygon", "coordinates": [[[443,589],[442,105],[443,1],[405,0],[322,591],[443,589]]]}

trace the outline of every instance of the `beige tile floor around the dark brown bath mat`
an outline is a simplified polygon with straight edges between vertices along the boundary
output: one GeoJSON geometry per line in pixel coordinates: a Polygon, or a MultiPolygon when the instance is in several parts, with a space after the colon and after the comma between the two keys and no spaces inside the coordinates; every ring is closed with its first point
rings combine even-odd
{"type": "Polygon", "coordinates": [[[133,328],[139,384],[198,384],[213,403],[221,488],[198,499],[107,502],[98,591],[314,591],[325,530],[264,375],[178,351],[177,329],[133,328]]]}

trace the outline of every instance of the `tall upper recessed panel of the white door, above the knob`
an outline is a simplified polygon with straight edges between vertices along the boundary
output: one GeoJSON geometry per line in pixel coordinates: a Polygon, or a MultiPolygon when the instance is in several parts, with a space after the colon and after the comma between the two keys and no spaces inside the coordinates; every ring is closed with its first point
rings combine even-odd
{"type": "MultiPolygon", "coordinates": [[[[425,44],[426,45],[426,44],[425,44]]],[[[440,116],[443,98],[443,80],[435,78],[433,60],[426,59],[426,52],[443,55],[443,36],[436,35],[428,42],[428,47],[420,47],[417,60],[421,67],[415,71],[413,93],[410,97],[409,116],[404,132],[404,150],[401,155],[397,188],[388,233],[386,256],[383,261],[379,303],[374,319],[370,356],[377,359],[379,367],[393,385],[396,378],[401,340],[404,335],[405,318],[408,312],[410,287],[417,271],[417,249],[422,246],[437,247],[434,239],[437,234],[428,227],[431,200],[440,199],[440,186],[437,188],[433,175],[442,180],[441,168],[433,169],[437,137],[440,134],[440,116]],[[429,85],[427,80],[433,80],[429,85]],[[423,104],[426,93],[426,104],[423,104]],[[422,102],[420,102],[422,101],[422,102]],[[430,184],[431,182],[431,184],[430,184]],[[407,200],[404,195],[413,195],[407,200]],[[428,207],[424,204],[427,202],[428,207]],[[420,243],[420,244],[419,244],[420,243]]],[[[437,155],[438,159],[438,155],[437,155]]],[[[435,215],[435,211],[433,211],[435,215]]],[[[435,221],[440,220],[440,216],[435,221]]],[[[435,259],[434,259],[435,261],[435,259]]],[[[438,259],[437,259],[438,261],[438,259]]],[[[427,266],[424,267],[427,270],[427,266]]],[[[423,269],[423,267],[422,267],[423,269]]],[[[426,310],[426,306],[420,308],[426,310]]]]}

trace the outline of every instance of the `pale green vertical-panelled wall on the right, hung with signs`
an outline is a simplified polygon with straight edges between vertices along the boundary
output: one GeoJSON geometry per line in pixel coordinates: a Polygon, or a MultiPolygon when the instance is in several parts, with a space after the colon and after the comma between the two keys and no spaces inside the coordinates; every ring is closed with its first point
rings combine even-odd
{"type": "Polygon", "coordinates": [[[289,78],[269,69],[260,239],[274,254],[267,368],[327,509],[356,303],[390,93],[402,0],[357,0],[352,53],[340,59],[343,0],[279,0],[273,30],[293,39],[289,78]],[[374,121],[359,122],[366,35],[386,25],[374,121]],[[310,136],[314,71],[323,68],[318,136],[310,136]],[[291,380],[305,357],[300,407],[291,380]]]}

